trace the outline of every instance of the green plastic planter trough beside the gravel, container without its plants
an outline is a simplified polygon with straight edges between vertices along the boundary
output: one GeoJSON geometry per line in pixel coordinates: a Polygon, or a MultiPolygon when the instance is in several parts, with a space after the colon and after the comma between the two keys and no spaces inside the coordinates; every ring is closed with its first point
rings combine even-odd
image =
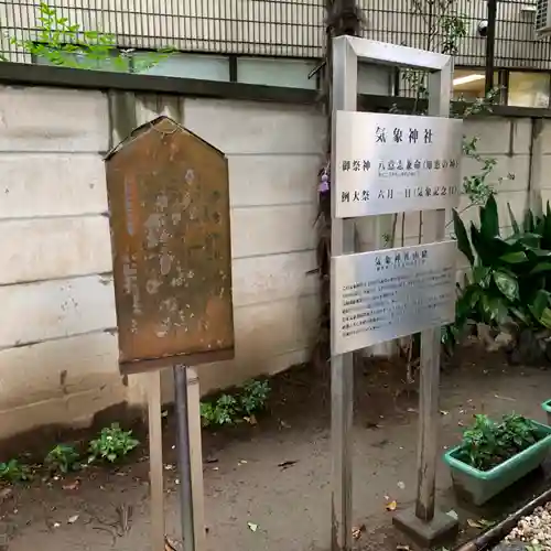
{"type": "Polygon", "coordinates": [[[495,466],[490,471],[478,471],[457,458],[461,445],[450,450],[444,461],[452,471],[455,489],[475,505],[482,505],[528,473],[538,468],[551,446],[551,426],[532,421],[542,439],[536,444],[495,466]]]}

